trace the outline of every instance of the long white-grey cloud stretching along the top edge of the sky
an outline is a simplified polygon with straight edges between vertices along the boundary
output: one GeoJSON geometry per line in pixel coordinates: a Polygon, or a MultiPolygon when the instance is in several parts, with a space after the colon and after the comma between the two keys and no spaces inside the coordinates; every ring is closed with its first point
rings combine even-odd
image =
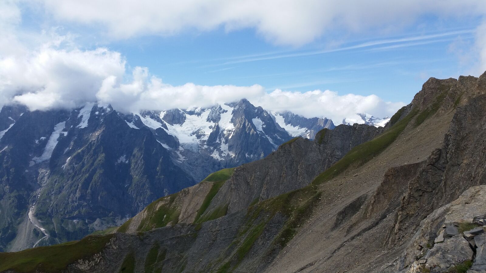
{"type": "Polygon", "coordinates": [[[117,38],[196,29],[254,28],[277,44],[302,45],[332,31],[401,28],[421,16],[486,14],[484,0],[37,0],[60,20],[101,24],[117,38]]]}

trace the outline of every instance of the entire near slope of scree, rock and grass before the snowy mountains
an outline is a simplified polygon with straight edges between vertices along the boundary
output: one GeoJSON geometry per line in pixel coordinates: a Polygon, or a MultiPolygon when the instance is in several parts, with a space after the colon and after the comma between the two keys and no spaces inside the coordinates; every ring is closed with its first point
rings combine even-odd
{"type": "MultiPolygon", "coordinates": [[[[262,187],[273,182],[261,181],[257,167],[240,173],[245,164],[152,203],[116,232],[105,232],[111,234],[0,254],[0,270],[448,272],[471,266],[481,272],[483,236],[472,228],[486,214],[484,187],[476,187],[486,184],[485,110],[486,73],[431,78],[383,133],[352,134],[374,138],[307,182],[299,171],[312,167],[298,152],[307,151],[308,141],[295,139],[275,152],[295,163],[261,160],[278,188],[298,189],[280,194],[262,187]],[[248,179],[253,176],[258,179],[248,179]],[[63,254],[53,260],[45,254],[52,251],[63,254]]],[[[313,145],[329,145],[324,132],[313,145]]]]}

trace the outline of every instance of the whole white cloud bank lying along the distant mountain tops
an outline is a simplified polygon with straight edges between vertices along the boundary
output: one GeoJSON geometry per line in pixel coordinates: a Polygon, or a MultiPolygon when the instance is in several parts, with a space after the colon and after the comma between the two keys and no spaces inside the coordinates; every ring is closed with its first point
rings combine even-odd
{"type": "Polygon", "coordinates": [[[0,57],[0,105],[21,103],[30,110],[49,110],[101,102],[111,103],[121,112],[136,112],[209,107],[246,98],[267,110],[341,120],[362,112],[391,115],[404,104],[384,102],[375,95],[339,95],[329,90],[301,93],[277,89],[267,93],[261,85],[174,86],[150,75],[148,68],[128,70],[119,52],[65,48],[66,39],[58,36],[34,51],[0,57]]]}

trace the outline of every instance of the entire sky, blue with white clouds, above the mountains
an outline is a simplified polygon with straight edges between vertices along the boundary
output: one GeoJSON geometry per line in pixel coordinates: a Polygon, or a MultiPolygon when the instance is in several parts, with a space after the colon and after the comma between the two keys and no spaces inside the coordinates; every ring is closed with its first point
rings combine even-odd
{"type": "Polygon", "coordinates": [[[121,112],[247,98],[393,115],[430,77],[486,70],[484,0],[2,0],[0,105],[121,112]]]}

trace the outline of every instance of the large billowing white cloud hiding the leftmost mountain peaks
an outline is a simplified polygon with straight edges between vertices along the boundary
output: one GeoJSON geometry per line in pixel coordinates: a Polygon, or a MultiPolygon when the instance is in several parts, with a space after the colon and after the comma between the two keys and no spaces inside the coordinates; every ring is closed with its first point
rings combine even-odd
{"type": "Polygon", "coordinates": [[[104,79],[124,73],[125,61],[118,52],[47,44],[24,55],[0,57],[0,105],[20,102],[31,110],[76,107],[95,101],[104,79]]]}

